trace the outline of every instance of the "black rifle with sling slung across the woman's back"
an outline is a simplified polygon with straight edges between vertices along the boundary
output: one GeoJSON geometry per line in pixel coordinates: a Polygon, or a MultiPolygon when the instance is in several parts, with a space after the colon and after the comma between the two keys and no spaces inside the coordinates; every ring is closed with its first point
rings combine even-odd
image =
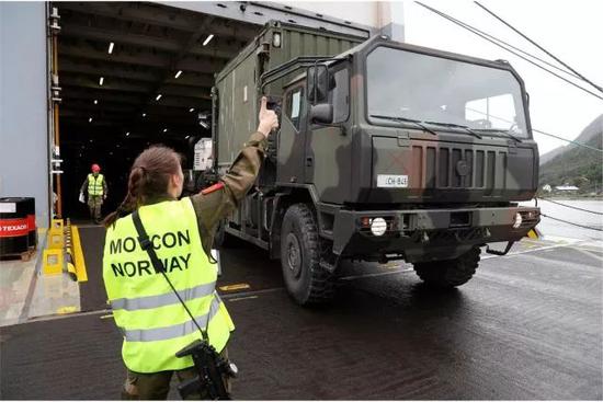
{"type": "MultiPolygon", "coordinates": [[[[224,384],[224,378],[236,377],[238,372],[237,366],[223,358],[209,344],[207,332],[203,331],[201,325],[196,322],[195,318],[191,313],[191,310],[189,310],[189,307],[186,307],[186,303],[184,302],[184,300],[182,300],[182,298],[175,290],[172,282],[170,280],[168,275],[166,275],[166,268],[163,267],[161,261],[157,257],[157,253],[155,252],[155,249],[152,248],[152,242],[149,240],[147,231],[143,226],[143,221],[140,220],[140,216],[138,215],[138,210],[135,210],[132,214],[132,219],[134,221],[136,231],[138,232],[138,242],[140,243],[143,250],[145,250],[149,254],[155,271],[163,275],[168,284],[172,288],[173,292],[178,297],[178,300],[180,300],[182,307],[184,307],[184,310],[186,310],[186,313],[191,317],[193,323],[201,332],[202,340],[194,341],[189,346],[182,348],[175,354],[177,357],[191,356],[193,358],[195,368],[198,371],[198,375],[196,377],[183,381],[178,387],[180,397],[182,399],[186,399],[191,394],[201,393],[205,389],[207,390],[208,397],[213,400],[230,399],[230,394],[228,393],[228,390],[224,384]]],[[[207,323],[208,322],[209,313],[207,314],[207,323]]]]}

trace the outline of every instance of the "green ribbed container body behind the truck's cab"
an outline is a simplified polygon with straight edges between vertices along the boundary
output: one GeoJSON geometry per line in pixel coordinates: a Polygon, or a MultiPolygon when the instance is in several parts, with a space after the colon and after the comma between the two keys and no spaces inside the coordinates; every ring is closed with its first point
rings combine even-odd
{"type": "MultiPolygon", "coordinates": [[[[217,122],[214,127],[214,149],[217,150],[218,170],[228,168],[258,124],[260,76],[299,56],[335,56],[367,37],[271,22],[216,77],[217,122]],[[280,35],[280,46],[274,36],[280,35]]],[[[292,72],[265,88],[265,93],[278,96],[283,85],[302,73],[292,72]]]]}

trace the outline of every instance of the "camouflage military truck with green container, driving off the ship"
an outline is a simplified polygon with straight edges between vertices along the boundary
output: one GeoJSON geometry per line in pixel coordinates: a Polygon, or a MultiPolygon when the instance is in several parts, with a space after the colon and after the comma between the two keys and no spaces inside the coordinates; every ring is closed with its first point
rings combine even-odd
{"type": "Polygon", "coordinates": [[[517,205],[537,188],[538,150],[507,61],[272,22],[216,77],[218,173],[257,126],[262,95],[280,129],[216,241],[280,259],[300,305],[333,296],[343,260],[405,260],[428,285],[463,285],[481,246],[504,254],[539,221],[517,205]]]}

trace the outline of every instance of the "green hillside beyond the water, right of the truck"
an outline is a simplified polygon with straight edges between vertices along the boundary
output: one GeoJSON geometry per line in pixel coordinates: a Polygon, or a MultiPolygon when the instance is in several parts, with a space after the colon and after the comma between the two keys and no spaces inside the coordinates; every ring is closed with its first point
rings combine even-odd
{"type": "MultiPolygon", "coordinates": [[[[595,118],[576,139],[581,143],[603,149],[603,115],[595,118]]],[[[603,153],[584,147],[568,145],[549,153],[557,153],[553,159],[543,156],[541,165],[541,188],[570,184],[580,188],[580,193],[602,191],[603,153]]]]}

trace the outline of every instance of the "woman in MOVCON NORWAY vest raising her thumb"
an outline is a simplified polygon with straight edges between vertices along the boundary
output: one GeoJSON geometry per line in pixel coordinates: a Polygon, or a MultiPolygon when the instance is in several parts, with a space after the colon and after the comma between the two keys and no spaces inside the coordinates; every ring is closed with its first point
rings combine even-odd
{"type": "Polygon", "coordinates": [[[218,222],[237,208],[254,183],[265,139],[278,126],[265,99],[259,118],[258,131],[229,173],[201,194],[180,200],[180,156],[166,147],[145,150],[132,166],[126,198],[104,221],[103,279],[115,323],[124,335],[125,399],[166,399],[174,372],[180,381],[195,377],[192,358],[179,358],[175,353],[201,338],[170,285],[140,248],[132,213],[138,211],[167,276],[207,331],[211,345],[226,357],[235,325],[215,290],[217,272],[208,255],[218,222]]]}

